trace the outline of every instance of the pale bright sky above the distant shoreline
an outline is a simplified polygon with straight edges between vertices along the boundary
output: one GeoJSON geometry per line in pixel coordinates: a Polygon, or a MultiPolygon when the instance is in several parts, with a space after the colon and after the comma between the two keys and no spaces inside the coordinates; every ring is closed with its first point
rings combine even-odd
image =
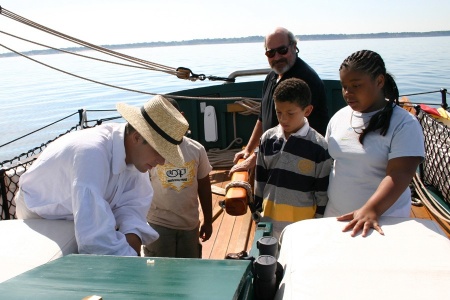
{"type": "MultiPolygon", "coordinates": [[[[277,26],[296,35],[450,30],[449,0],[0,0],[0,6],[96,45],[265,36],[277,26]]],[[[0,30],[44,42],[3,15],[0,30]]],[[[0,33],[0,44],[13,48],[10,40],[0,33]]],[[[51,45],[74,46],[66,43],[51,45]]],[[[22,44],[17,50],[36,49],[22,44]]]]}

